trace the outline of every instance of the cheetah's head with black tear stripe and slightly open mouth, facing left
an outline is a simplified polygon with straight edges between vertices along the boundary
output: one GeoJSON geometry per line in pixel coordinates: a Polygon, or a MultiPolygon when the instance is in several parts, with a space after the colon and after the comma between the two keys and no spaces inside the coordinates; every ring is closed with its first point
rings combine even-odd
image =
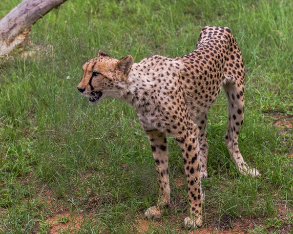
{"type": "Polygon", "coordinates": [[[131,55],[117,60],[100,49],[96,58],[83,65],[84,75],[77,89],[91,104],[106,97],[120,98],[133,63],[131,55]]]}

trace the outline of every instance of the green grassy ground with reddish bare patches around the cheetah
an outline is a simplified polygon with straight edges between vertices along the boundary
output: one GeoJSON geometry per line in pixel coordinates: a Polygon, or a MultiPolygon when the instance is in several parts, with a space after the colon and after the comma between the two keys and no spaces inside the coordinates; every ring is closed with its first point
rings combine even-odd
{"type": "MultiPolygon", "coordinates": [[[[19,2],[2,0],[0,18],[19,2]]],[[[76,86],[82,64],[100,48],[136,62],[184,55],[205,25],[230,27],[242,51],[239,144],[262,177],[239,175],[230,160],[221,92],[209,112],[200,231],[292,233],[292,9],[291,0],[68,0],[39,20],[32,41],[52,47],[0,63],[0,233],[188,233],[181,226],[188,200],[176,143],[168,139],[171,206],[162,220],[146,221],[158,186],[135,111],[110,99],[89,106],[76,86]]]]}

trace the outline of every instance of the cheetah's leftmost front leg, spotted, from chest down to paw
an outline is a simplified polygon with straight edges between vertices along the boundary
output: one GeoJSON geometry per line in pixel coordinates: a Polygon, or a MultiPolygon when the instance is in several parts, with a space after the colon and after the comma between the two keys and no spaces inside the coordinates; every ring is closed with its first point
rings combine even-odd
{"type": "Polygon", "coordinates": [[[146,210],[146,218],[160,218],[170,202],[170,187],[168,176],[168,148],[167,138],[159,131],[146,131],[153,152],[158,182],[160,187],[159,199],[156,206],[146,210]]]}

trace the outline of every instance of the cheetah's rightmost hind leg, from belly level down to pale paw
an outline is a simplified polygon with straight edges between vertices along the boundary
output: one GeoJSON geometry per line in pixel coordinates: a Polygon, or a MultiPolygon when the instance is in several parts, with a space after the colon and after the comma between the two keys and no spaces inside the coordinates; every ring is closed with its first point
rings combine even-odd
{"type": "Polygon", "coordinates": [[[244,94],[243,85],[239,87],[228,83],[224,85],[226,95],[228,97],[228,112],[229,122],[227,135],[225,137],[226,145],[229,149],[232,160],[238,171],[244,175],[251,175],[252,177],[260,177],[261,174],[256,169],[251,169],[244,161],[238,147],[238,135],[243,124],[243,106],[244,94]]]}

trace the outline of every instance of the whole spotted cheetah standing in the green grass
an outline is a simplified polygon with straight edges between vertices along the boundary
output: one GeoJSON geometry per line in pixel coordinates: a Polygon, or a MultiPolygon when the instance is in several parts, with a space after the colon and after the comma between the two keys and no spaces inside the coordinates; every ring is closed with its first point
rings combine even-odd
{"type": "Polygon", "coordinates": [[[152,56],[134,63],[131,55],[120,60],[103,50],[83,65],[78,85],[89,103],[106,97],[133,106],[152,149],[160,186],[156,206],[146,218],[160,218],[170,202],[167,138],[179,144],[188,183],[189,216],[185,227],[202,226],[201,178],[207,178],[207,113],[221,87],[228,98],[225,142],[241,174],[259,177],[250,169],[238,147],[243,124],[244,68],[241,52],[228,27],[204,27],[196,48],[182,57],[152,56]]]}

